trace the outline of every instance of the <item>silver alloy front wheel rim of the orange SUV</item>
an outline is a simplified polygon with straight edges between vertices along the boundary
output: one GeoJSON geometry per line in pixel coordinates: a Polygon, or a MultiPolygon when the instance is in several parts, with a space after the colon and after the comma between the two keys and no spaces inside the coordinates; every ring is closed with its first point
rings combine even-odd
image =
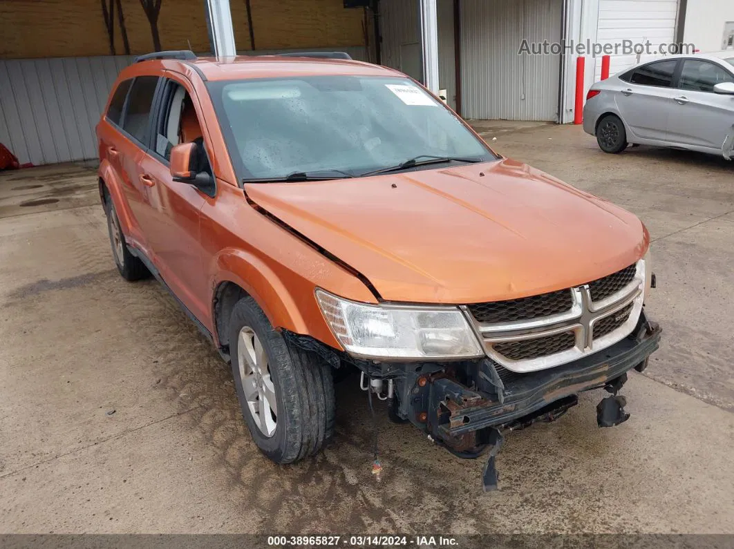
{"type": "Polygon", "coordinates": [[[252,419],[266,437],[272,437],[277,427],[275,386],[270,375],[268,356],[250,326],[243,326],[239,331],[237,364],[252,419]]]}

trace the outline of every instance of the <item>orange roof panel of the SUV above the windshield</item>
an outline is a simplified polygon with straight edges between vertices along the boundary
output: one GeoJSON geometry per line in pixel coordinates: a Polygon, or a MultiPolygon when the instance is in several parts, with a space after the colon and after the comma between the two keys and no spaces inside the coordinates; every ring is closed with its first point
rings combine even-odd
{"type": "Polygon", "coordinates": [[[395,70],[380,65],[347,59],[314,59],[310,57],[236,56],[226,59],[197,57],[187,60],[207,80],[239,80],[305,75],[393,75],[395,70]]]}

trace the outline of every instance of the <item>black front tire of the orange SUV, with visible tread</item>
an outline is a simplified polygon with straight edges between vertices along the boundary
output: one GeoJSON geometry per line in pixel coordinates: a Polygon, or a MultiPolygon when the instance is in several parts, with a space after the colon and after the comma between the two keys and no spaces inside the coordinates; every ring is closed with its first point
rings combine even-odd
{"type": "Polygon", "coordinates": [[[250,297],[242,298],[234,306],[229,342],[232,375],[242,416],[261,452],[275,463],[294,463],[319,452],[334,430],[331,366],[316,354],[288,344],[250,297]],[[241,344],[243,353],[240,353],[241,344]],[[250,350],[253,353],[250,357],[258,355],[258,350],[264,351],[266,367],[259,374],[246,357],[240,358],[250,350]],[[243,375],[249,400],[243,388],[243,375]],[[251,381],[253,376],[254,382],[251,381]],[[253,391],[265,392],[258,392],[253,397],[253,391]],[[268,407],[268,392],[271,398],[275,394],[275,410],[268,407]],[[252,411],[251,406],[258,408],[258,412],[252,411]],[[275,427],[272,427],[273,420],[275,427]],[[268,424],[274,429],[269,434],[268,424]]]}

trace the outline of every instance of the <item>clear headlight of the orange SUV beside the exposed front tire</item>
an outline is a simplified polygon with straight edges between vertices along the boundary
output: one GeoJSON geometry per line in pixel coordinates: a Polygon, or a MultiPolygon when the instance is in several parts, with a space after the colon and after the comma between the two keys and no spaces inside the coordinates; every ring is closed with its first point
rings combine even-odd
{"type": "Polygon", "coordinates": [[[344,349],[363,358],[470,358],[484,355],[456,307],[357,303],[316,290],[321,312],[344,349]]]}

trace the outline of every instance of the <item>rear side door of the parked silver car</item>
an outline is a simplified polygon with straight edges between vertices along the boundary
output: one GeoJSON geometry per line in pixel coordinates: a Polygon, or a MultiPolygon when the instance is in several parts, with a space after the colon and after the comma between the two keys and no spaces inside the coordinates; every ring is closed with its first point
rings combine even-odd
{"type": "Polygon", "coordinates": [[[665,141],[673,97],[672,87],[678,59],[666,59],[642,65],[622,75],[622,89],[617,92],[617,108],[631,132],[641,138],[665,141]]]}

